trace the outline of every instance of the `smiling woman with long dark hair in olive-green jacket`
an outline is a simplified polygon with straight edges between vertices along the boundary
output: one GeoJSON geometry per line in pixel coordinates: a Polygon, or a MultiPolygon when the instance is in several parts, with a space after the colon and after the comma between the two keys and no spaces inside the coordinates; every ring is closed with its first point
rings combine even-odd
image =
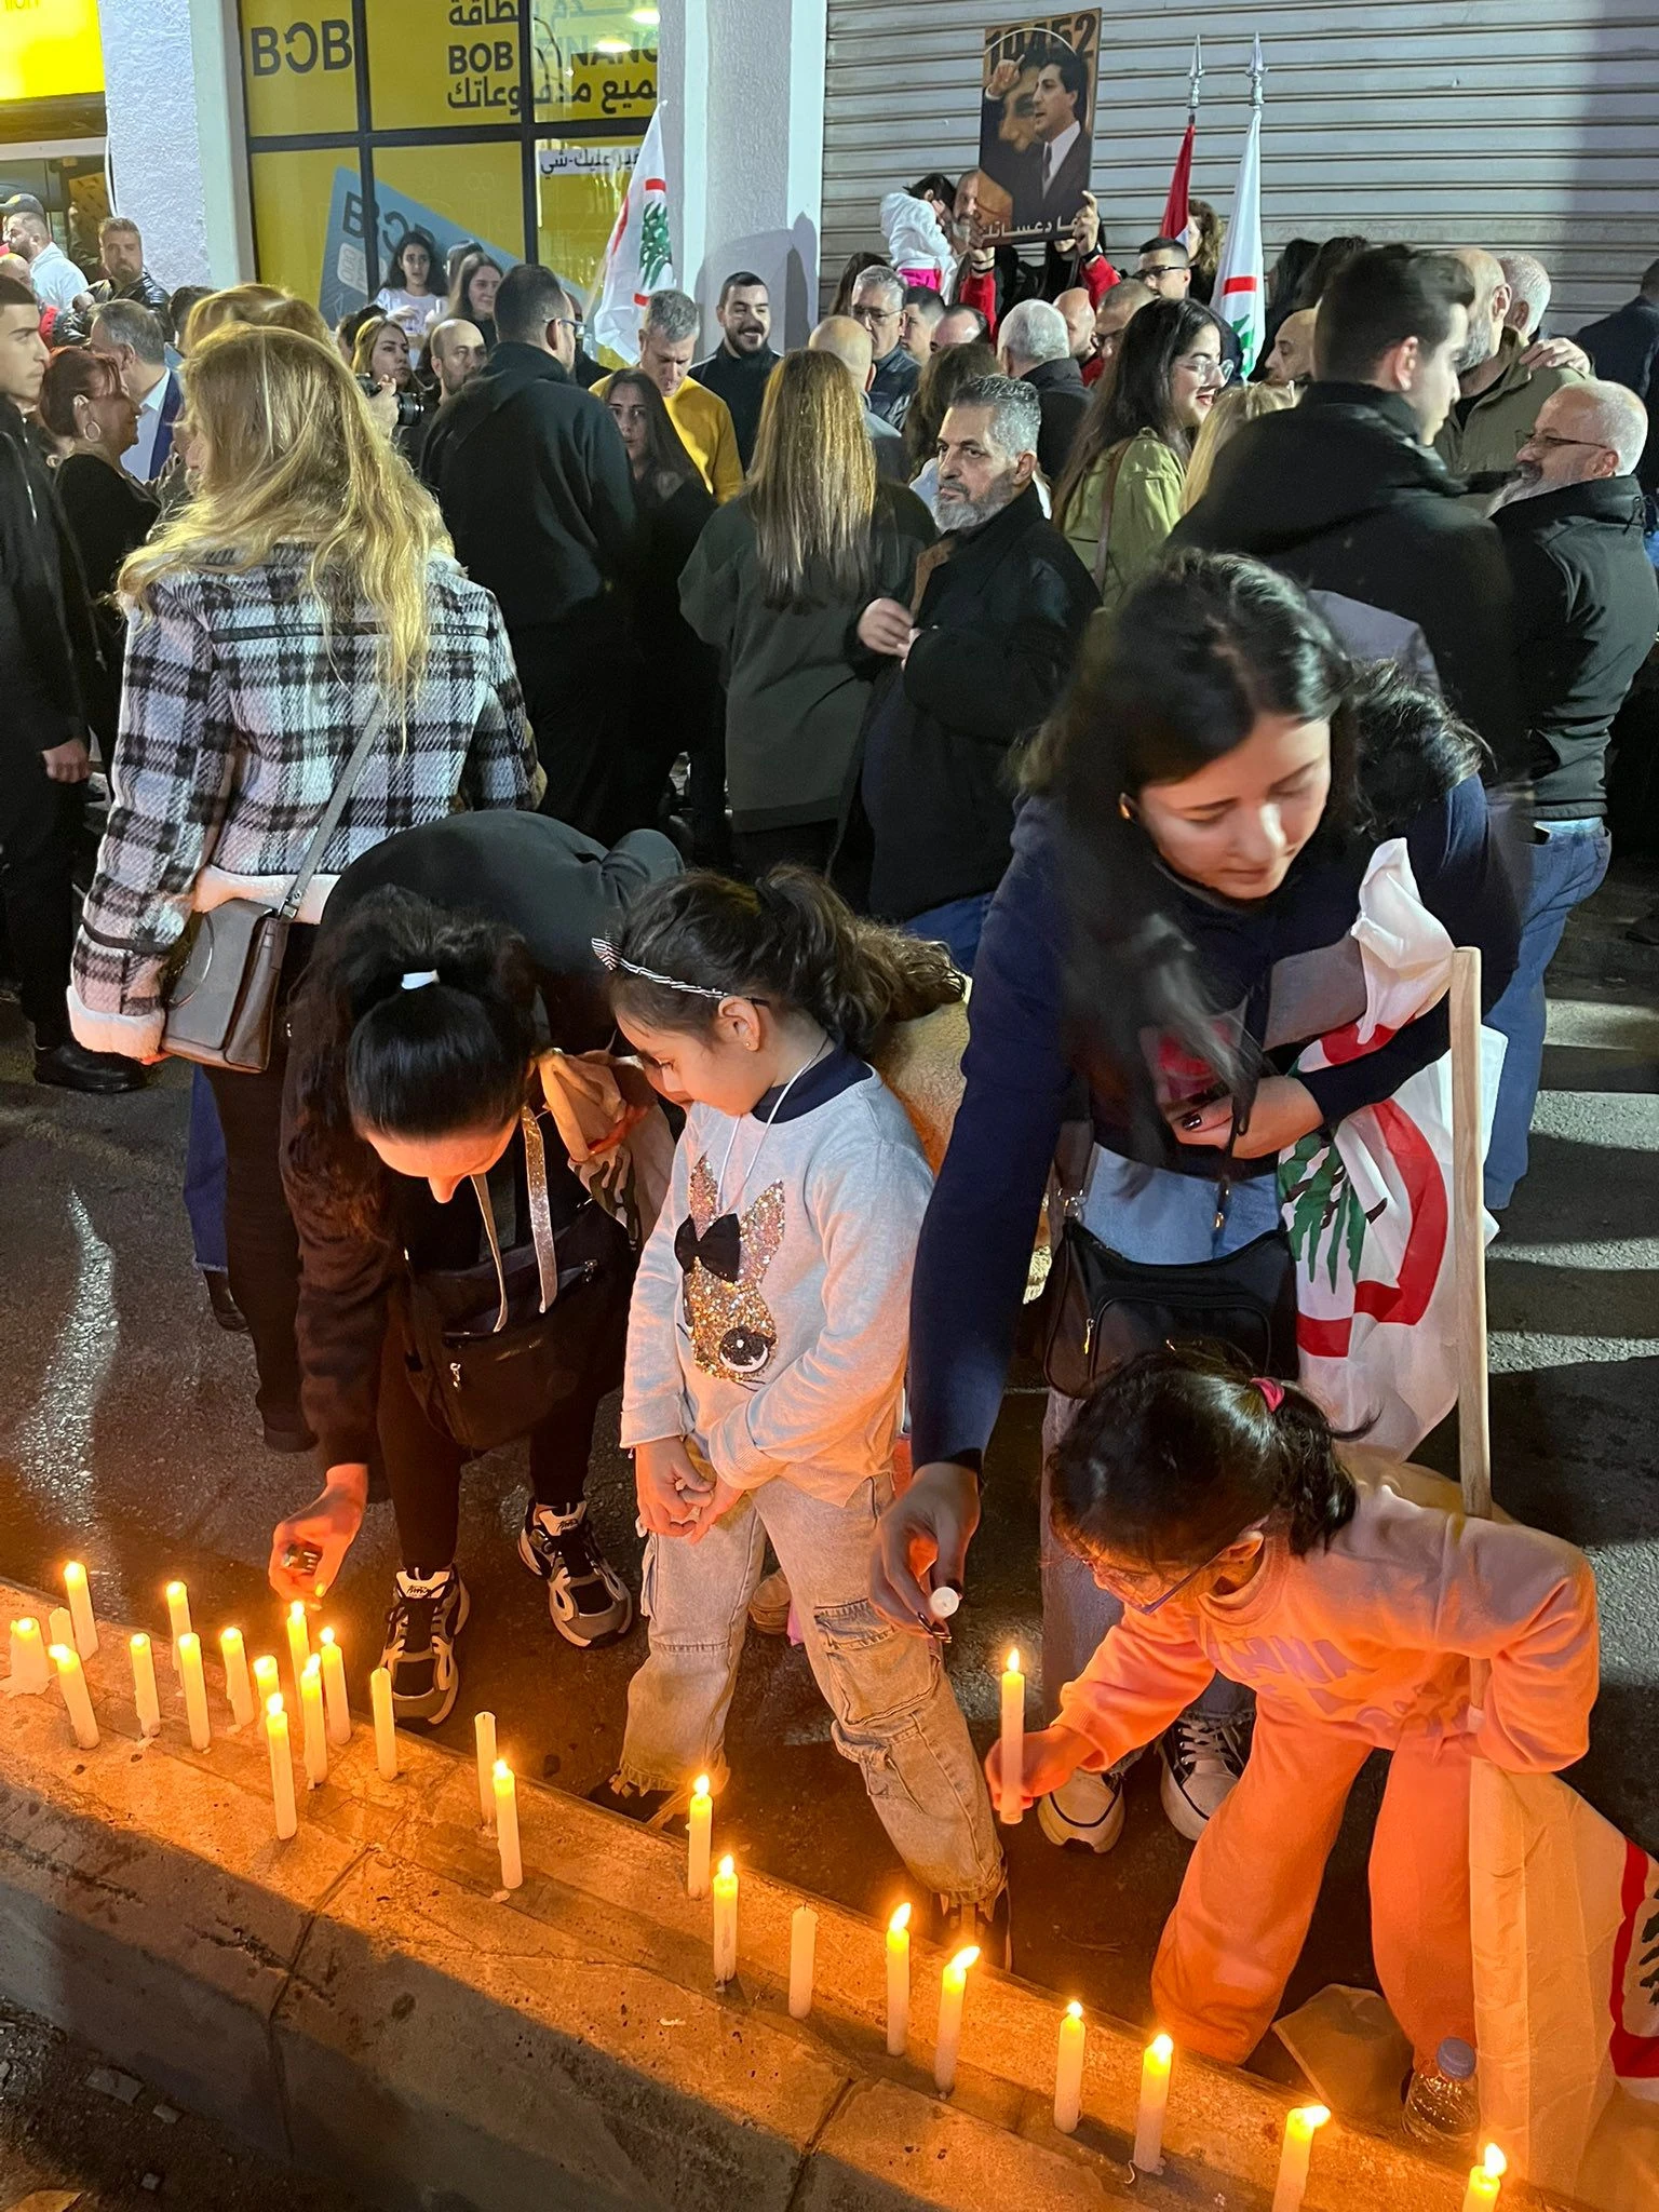
{"type": "Polygon", "coordinates": [[[1124,330],[1055,493],[1055,522],[1106,613],[1181,520],[1192,440],[1230,374],[1221,323],[1197,301],[1152,301],[1124,330]]]}

